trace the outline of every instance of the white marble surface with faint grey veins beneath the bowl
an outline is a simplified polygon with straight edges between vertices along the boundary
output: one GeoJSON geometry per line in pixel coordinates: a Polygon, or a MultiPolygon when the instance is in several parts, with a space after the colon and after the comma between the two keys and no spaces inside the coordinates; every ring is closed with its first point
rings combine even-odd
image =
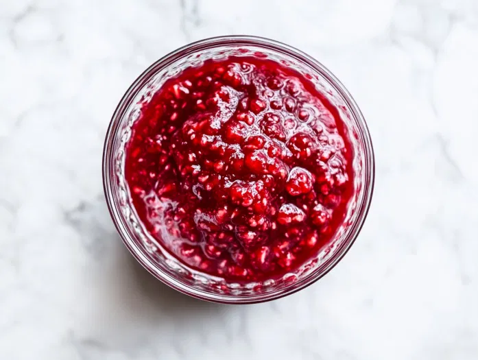
{"type": "Polygon", "coordinates": [[[0,0],[0,359],[478,359],[477,0],[0,0]],[[377,156],[319,283],[219,306],[123,247],[101,150],[123,92],[192,40],[256,34],[351,91],[377,156]]]}

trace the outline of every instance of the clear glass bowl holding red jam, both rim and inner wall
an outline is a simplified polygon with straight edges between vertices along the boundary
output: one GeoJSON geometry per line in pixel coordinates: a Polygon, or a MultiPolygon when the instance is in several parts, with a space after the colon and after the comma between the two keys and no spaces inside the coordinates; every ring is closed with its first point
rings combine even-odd
{"type": "Polygon", "coordinates": [[[220,36],[200,40],[169,53],[152,64],[130,86],[112,116],[103,155],[103,182],[112,220],[127,248],[145,269],[163,283],[189,296],[228,304],[249,304],[274,300],[314,283],[330,271],[359,235],[366,219],[374,186],[374,154],[363,116],[337,78],[306,53],[274,40],[255,36],[220,36]],[[261,283],[235,283],[198,271],[180,263],[155,241],[139,220],[125,179],[125,147],[133,123],[139,118],[141,101],[166,80],[187,67],[198,67],[207,59],[228,56],[262,56],[307,75],[339,110],[354,152],[354,195],[342,226],[333,239],[312,259],[282,278],[261,283]]]}

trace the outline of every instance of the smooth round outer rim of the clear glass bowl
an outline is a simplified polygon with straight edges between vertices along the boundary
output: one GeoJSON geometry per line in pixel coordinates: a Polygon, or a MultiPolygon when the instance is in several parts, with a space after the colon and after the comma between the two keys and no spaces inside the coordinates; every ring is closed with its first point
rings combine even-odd
{"type": "Polygon", "coordinates": [[[203,40],[196,41],[194,43],[189,43],[180,47],[171,53],[163,56],[156,62],[150,65],[139,77],[134,80],[130,88],[126,91],[123,95],[119,104],[112,115],[112,119],[110,121],[110,125],[108,126],[108,130],[106,132],[106,138],[104,143],[104,151],[103,151],[103,162],[102,162],[102,174],[103,174],[103,187],[104,187],[104,194],[106,197],[106,203],[108,205],[108,210],[110,211],[110,215],[112,218],[115,227],[117,228],[117,232],[119,233],[123,243],[126,245],[126,248],[131,252],[134,258],[147,269],[153,276],[158,278],[161,282],[165,283],[169,287],[176,289],[186,295],[192,296],[193,298],[198,298],[200,300],[206,300],[211,302],[218,302],[223,304],[253,304],[258,302],[266,302],[270,300],[275,300],[278,298],[283,298],[284,296],[290,295],[291,293],[296,293],[297,291],[308,287],[315,283],[315,281],[322,278],[322,276],[326,275],[328,272],[339,263],[340,260],[345,256],[345,254],[350,250],[353,243],[357,239],[359,232],[363,226],[363,223],[368,215],[368,211],[370,209],[370,203],[372,200],[372,194],[374,189],[374,178],[375,178],[375,163],[374,163],[374,149],[372,146],[372,141],[370,139],[370,132],[368,130],[368,126],[366,124],[363,115],[357,106],[355,100],[352,98],[352,95],[348,92],[345,86],[329,71],[322,65],[318,60],[312,58],[307,53],[300,51],[294,47],[286,45],[284,43],[280,43],[276,40],[271,40],[269,38],[262,38],[259,36],[247,36],[247,35],[230,35],[230,36],[216,36],[213,38],[206,38],[203,40]],[[183,56],[191,53],[192,51],[201,51],[202,49],[210,49],[213,47],[220,47],[223,45],[252,45],[256,47],[263,47],[266,49],[270,49],[272,51],[279,51],[284,53],[287,56],[291,56],[300,62],[304,62],[309,67],[311,67],[314,71],[317,71],[324,77],[339,93],[344,101],[346,102],[350,112],[352,112],[355,121],[357,121],[357,125],[360,130],[361,141],[363,141],[363,146],[366,149],[366,154],[364,154],[364,164],[363,169],[366,171],[366,182],[363,184],[365,188],[364,196],[361,204],[359,204],[357,211],[359,211],[359,216],[354,224],[351,226],[353,227],[352,231],[349,233],[348,237],[345,241],[337,248],[335,254],[331,256],[330,259],[325,261],[321,265],[322,271],[318,271],[313,276],[309,277],[307,282],[302,282],[300,286],[296,286],[295,283],[291,283],[291,286],[283,289],[280,293],[265,293],[263,295],[256,296],[251,298],[250,296],[230,296],[230,295],[221,295],[217,293],[205,293],[204,291],[195,291],[191,287],[187,287],[182,285],[178,281],[172,282],[169,280],[169,277],[164,276],[163,272],[154,264],[154,262],[149,259],[143,251],[139,248],[138,245],[134,243],[128,236],[128,228],[125,221],[123,221],[123,217],[121,217],[121,212],[119,210],[118,204],[115,201],[115,197],[112,194],[112,173],[110,169],[112,169],[112,163],[114,162],[114,154],[112,154],[112,149],[115,141],[115,134],[119,130],[119,125],[121,119],[130,106],[131,101],[134,99],[135,95],[138,91],[141,90],[141,87],[144,85],[143,82],[147,80],[150,76],[157,73],[160,69],[164,69],[168,67],[169,64],[173,63],[174,61],[182,58],[183,56]],[[295,286],[294,286],[295,285],[295,286]]]}

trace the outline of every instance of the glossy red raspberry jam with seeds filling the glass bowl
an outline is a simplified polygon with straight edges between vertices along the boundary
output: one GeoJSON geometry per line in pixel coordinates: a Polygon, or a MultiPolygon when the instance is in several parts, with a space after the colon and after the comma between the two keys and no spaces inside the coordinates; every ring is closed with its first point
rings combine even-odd
{"type": "Polygon", "coordinates": [[[252,57],[208,60],[144,101],[126,180],[145,228],[184,264],[278,278],[331,241],[353,192],[352,148],[309,80],[252,57]]]}

